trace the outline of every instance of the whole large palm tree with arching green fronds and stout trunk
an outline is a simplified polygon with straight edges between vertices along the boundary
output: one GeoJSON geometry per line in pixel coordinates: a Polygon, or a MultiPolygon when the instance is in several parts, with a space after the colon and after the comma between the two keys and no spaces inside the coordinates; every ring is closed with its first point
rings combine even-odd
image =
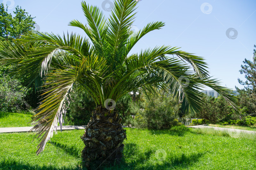
{"type": "Polygon", "coordinates": [[[137,3],[116,0],[106,19],[98,7],[82,2],[87,24],[73,20],[69,25],[83,29],[88,38],[75,33],[61,37],[32,31],[13,43],[1,43],[0,63],[13,65],[12,75],[21,77],[27,88],[44,90],[39,112],[33,116],[33,121],[42,125],[33,128],[40,138],[37,154],[44,150],[53,132],[57,133],[58,122],[62,126],[74,86],[86,90],[96,104],[81,137],[85,144],[82,158],[87,166],[94,160],[113,162],[122,157],[126,133],[114,104],[138,88],[150,93],[155,88],[171,92],[177,102],[182,102],[182,111],[188,113],[200,109],[203,93],[199,90],[208,86],[239,113],[236,98],[209,76],[202,57],[170,46],[130,54],[144,35],[164,26],[163,22],[152,22],[132,32],[137,3]]]}

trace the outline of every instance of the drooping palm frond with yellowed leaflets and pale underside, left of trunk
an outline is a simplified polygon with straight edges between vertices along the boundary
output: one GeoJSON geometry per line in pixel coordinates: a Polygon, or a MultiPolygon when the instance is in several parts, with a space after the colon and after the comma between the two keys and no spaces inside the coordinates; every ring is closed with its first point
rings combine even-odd
{"type": "Polygon", "coordinates": [[[53,132],[57,133],[58,121],[60,127],[63,123],[63,115],[66,114],[67,102],[69,104],[70,92],[74,83],[79,84],[81,78],[90,81],[98,71],[92,71],[94,64],[89,63],[88,59],[84,59],[80,65],[66,66],[65,70],[56,70],[49,73],[46,77],[45,95],[38,110],[39,113],[33,116],[32,122],[39,122],[41,126],[35,125],[30,131],[38,130],[37,138],[41,137],[38,145],[37,154],[42,152],[47,141],[53,136],[53,132]]]}

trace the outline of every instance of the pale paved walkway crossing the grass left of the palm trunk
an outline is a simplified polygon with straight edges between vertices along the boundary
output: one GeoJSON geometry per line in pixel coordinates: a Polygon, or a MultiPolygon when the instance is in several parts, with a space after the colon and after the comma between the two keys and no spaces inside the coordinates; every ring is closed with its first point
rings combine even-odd
{"type": "MultiPolygon", "coordinates": [[[[10,132],[28,132],[31,127],[2,127],[0,128],[0,133],[10,133],[10,132]]],[[[72,130],[72,129],[85,129],[85,126],[62,126],[62,130],[72,130]]],[[[60,126],[57,127],[60,130],[60,126]]]]}

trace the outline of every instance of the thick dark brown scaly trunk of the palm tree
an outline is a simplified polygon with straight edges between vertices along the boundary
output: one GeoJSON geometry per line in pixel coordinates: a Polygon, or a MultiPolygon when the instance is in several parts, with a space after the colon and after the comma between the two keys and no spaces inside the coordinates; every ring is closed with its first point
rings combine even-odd
{"type": "Polygon", "coordinates": [[[92,112],[91,120],[81,137],[85,147],[82,150],[82,161],[86,167],[91,164],[118,163],[123,156],[123,141],[126,139],[122,118],[117,109],[107,110],[98,105],[92,112]]]}

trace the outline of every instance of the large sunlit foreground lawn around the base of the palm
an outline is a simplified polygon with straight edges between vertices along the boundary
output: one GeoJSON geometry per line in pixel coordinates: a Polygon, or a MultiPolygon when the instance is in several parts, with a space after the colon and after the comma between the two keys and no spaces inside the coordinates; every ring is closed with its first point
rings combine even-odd
{"type": "MultiPolygon", "coordinates": [[[[256,169],[255,136],[184,126],[170,130],[127,129],[122,169],[256,169]]],[[[0,133],[0,169],[81,169],[84,130],[58,132],[36,156],[34,133],[0,133]]]]}

